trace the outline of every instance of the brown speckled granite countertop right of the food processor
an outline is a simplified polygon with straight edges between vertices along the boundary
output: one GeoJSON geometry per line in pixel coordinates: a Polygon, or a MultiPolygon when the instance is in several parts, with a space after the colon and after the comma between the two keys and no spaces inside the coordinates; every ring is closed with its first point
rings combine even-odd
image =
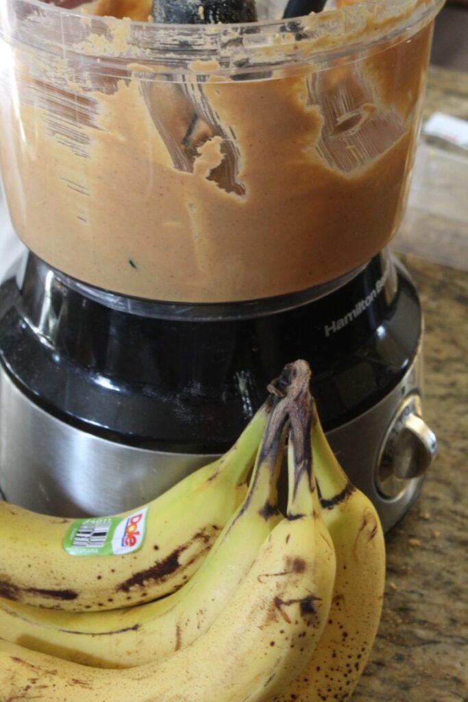
{"type": "MultiPolygon", "coordinates": [[[[468,74],[431,69],[425,116],[436,110],[468,119],[468,74]]],[[[439,452],[387,536],[380,631],[353,702],[468,702],[467,261],[401,258],[424,310],[424,416],[439,452]]]]}

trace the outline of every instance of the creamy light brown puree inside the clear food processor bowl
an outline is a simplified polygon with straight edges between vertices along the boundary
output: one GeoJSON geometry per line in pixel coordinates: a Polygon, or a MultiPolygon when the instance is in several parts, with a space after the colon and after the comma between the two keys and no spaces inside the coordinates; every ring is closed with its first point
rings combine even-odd
{"type": "MultiPolygon", "coordinates": [[[[91,7],[149,11],[146,0],[91,7]]],[[[334,279],[399,225],[430,39],[427,25],[325,72],[213,76],[185,147],[199,105],[188,88],[143,86],[138,66],[53,87],[16,48],[19,98],[0,107],[15,230],[72,277],[142,298],[247,300],[334,279]]]]}

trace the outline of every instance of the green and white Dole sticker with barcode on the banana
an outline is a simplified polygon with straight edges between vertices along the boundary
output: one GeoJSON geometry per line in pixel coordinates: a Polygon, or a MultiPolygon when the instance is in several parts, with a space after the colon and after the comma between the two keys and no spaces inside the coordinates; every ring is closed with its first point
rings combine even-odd
{"type": "Polygon", "coordinates": [[[127,517],[76,519],[63,548],[72,556],[112,556],[132,553],[145,538],[147,507],[127,517]]]}

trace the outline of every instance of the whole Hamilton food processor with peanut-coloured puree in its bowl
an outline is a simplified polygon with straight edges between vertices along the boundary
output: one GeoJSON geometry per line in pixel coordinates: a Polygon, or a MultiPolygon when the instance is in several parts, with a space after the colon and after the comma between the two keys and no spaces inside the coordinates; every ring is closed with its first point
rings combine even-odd
{"type": "MultiPolygon", "coordinates": [[[[27,246],[0,288],[0,489],[131,509],[225,451],[304,358],[385,529],[436,451],[422,312],[388,245],[437,0],[164,24],[6,0],[0,166],[27,246]]],[[[71,8],[70,8],[71,7],[71,8]]]]}

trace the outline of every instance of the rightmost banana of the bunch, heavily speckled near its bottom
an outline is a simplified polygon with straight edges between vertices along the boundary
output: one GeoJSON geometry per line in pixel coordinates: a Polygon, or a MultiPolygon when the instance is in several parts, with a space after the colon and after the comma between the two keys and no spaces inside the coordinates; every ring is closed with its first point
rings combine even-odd
{"type": "Polygon", "coordinates": [[[328,624],[302,675],[275,702],[346,702],[363,672],[382,611],[385,540],[373,504],[347,479],[316,415],[312,448],[337,570],[328,624]]]}

